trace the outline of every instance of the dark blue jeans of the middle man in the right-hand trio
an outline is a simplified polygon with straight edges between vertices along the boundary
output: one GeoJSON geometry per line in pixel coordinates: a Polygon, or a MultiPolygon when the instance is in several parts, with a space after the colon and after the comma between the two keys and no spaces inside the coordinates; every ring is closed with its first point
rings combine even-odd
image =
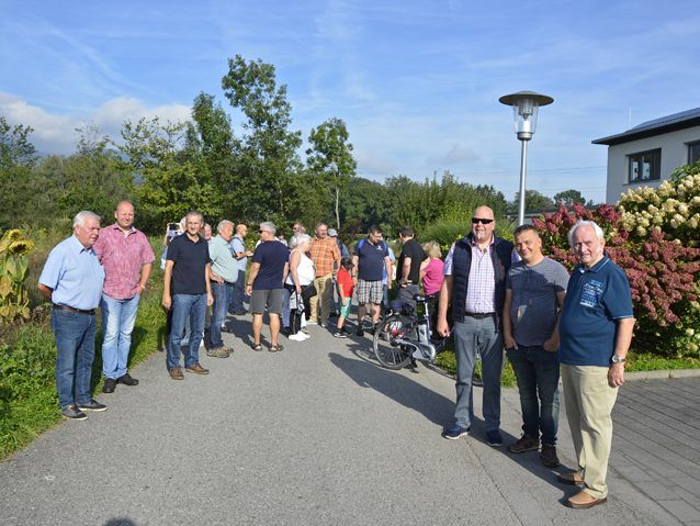
{"type": "Polygon", "coordinates": [[[558,352],[542,346],[507,349],[508,359],[518,379],[522,432],[534,438],[542,433],[542,444],[556,445],[558,429],[560,360],[558,352]]]}

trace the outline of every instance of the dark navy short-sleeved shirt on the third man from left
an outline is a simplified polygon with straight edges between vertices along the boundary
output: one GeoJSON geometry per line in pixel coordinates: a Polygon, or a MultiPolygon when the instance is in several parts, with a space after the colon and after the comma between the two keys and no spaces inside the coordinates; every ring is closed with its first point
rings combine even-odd
{"type": "Polygon", "coordinates": [[[211,260],[208,244],[203,237],[196,243],[187,233],[174,237],[168,246],[168,260],[174,264],[170,280],[172,294],[206,293],[206,265],[211,260]]]}

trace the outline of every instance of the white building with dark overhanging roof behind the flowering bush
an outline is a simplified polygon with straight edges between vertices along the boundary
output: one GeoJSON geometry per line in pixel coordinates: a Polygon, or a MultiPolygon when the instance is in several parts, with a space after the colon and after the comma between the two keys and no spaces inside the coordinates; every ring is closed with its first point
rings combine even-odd
{"type": "Polygon", "coordinates": [[[656,187],[679,166],[700,160],[700,108],[642,123],[592,144],[608,145],[606,201],[616,203],[631,188],[656,187]]]}

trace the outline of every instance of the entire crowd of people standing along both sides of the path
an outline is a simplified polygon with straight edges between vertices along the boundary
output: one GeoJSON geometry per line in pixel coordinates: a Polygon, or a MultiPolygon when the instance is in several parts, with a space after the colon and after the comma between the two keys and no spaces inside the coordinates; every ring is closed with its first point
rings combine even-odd
{"type": "MultiPolygon", "coordinates": [[[[52,250],[39,277],[38,288],[53,303],[56,389],[67,418],[84,419],[86,411],[106,409],[90,393],[98,306],[102,310],[103,392],[113,392],[117,384],[138,383],[126,366],[138,301],[155,256],[146,236],[134,227],[131,203],[120,202],[114,216],[113,225],[100,230],[98,215],[78,213],[74,235],[52,250]]],[[[192,211],[181,222],[182,233],[167,236],[162,305],[170,318],[166,363],[173,380],[184,378],[182,354],[185,372],[208,373],[199,358],[207,306],[212,310],[206,354],[226,358],[233,351],[222,337],[227,312],[246,314],[246,294],[252,314],[252,349],[262,350],[267,312],[268,350],[276,352],[283,349],[281,332],[302,342],[309,337],[306,325],[326,325],[336,337],[347,337],[353,296],[358,302],[355,334],[364,335],[368,314],[371,331],[376,331],[382,309],[391,305],[389,289],[396,287],[394,305],[411,307],[422,283],[432,335],[452,334],[455,344],[454,423],[442,436],[454,440],[470,432],[473,374],[481,358],[486,440],[494,447],[503,445],[505,349],[518,381],[523,418],[523,434],[509,450],[539,450],[545,466],[558,466],[561,373],[578,469],[560,474],[558,480],[582,486],[565,504],[587,508],[606,502],[611,411],[624,382],[635,320],[629,281],[606,256],[605,236],[596,223],[579,221],[568,233],[578,260],[571,277],[542,253],[535,227],[516,228],[515,244],[498,237],[488,206],[476,209],[472,232],[451,246],[444,262],[437,243],[419,245],[410,227],[399,232],[402,251],[396,259],[379,226],[370,227],[351,257],[325,223],[316,225],[314,237],[295,223],[287,246],[276,237],[275,225],[263,222],[255,251],[246,248],[245,225],[221,221],[217,235],[210,234],[208,239],[204,226],[202,214],[192,211]],[[248,258],[251,266],[246,272],[248,258]],[[337,307],[332,326],[329,318],[337,307]],[[185,332],[189,340],[183,350],[185,332]]]]}

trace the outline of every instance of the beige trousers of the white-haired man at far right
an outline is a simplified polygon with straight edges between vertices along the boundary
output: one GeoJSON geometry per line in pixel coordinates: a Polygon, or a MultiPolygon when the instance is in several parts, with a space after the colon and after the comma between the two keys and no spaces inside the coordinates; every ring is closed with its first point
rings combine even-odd
{"type": "Polygon", "coordinates": [[[562,363],[566,417],[584,478],[584,491],[608,496],[606,474],[612,446],[612,407],[618,389],[608,384],[608,368],[562,363]]]}

